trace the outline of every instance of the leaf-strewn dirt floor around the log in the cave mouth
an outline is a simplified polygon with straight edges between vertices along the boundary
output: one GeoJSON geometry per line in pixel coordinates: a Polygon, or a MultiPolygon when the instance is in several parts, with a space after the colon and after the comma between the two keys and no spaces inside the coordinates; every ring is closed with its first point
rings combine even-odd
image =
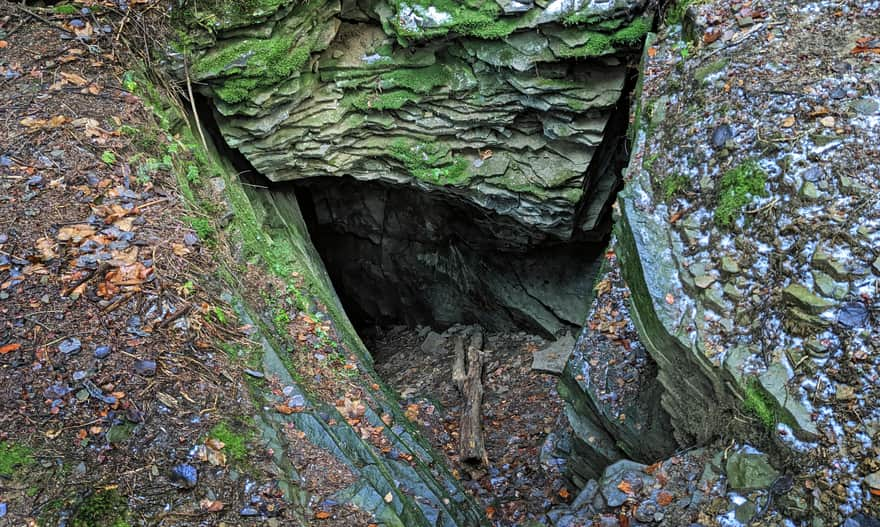
{"type": "Polygon", "coordinates": [[[559,467],[540,460],[547,434],[567,425],[557,377],[532,370],[533,353],[549,343],[522,332],[486,335],[483,431],[489,465],[475,468],[459,460],[464,401],[452,381],[453,339],[429,333],[429,328],[398,326],[367,343],[379,374],[400,394],[401,405],[434,447],[446,454],[493,524],[523,525],[572,499],[575,490],[566,486],[559,467]]]}

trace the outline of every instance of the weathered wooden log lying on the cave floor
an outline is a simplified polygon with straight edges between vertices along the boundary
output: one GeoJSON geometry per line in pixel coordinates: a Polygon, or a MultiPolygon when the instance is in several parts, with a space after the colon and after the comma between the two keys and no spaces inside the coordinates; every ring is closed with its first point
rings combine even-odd
{"type": "Polygon", "coordinates": [[[459,459],[462,463],[479,465],[489,464],[489,456],[486,453],[486,447],[483,443],[483,333],[479,329],[471,335],[470,343],[467,347],[467,356],[464,358],[464,344],[462,339],[456,339],[456,363],[453,365],[453,380],[456,374],[461,378],[461,373],[466,371],[464,379],[459,384],[462,398],[464,399],[464,407],[461,413],[461,426],[459,427],[459,459]],[[461,353],[459,353],[459,344],[461,344],[461,353]],[[459,365],[459,355],[467,363],[465,369],[461,364],[460,369],[456,369],[459,365]]]}

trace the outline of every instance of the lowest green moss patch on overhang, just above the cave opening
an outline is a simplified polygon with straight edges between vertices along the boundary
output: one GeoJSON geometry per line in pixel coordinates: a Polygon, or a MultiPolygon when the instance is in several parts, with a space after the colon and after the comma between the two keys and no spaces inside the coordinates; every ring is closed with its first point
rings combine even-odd
{"type": "Polygon", "coordinates": [[[468,162],[453,156],[445,146],[398,139],[389,154],[403,163],[413,177],[436,185],[456,185],[468,180],[468,162]]]}

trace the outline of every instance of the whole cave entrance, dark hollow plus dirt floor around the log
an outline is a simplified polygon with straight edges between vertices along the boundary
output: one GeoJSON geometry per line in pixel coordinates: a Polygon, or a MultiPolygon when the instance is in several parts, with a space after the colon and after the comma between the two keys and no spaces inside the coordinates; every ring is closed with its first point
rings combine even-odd
{"type": "Polygon", "coordinates": [[[533,362],[572,349],[607,226],[563,241],[441,192],[338,177],[289,188],[377,372],[465,488],[502,525],[576,494],[558,376],[533,362]],[[475,333],[489,460],[476,465],[462,460],[468,400],[454,378],[456,346],[475,333]]]}

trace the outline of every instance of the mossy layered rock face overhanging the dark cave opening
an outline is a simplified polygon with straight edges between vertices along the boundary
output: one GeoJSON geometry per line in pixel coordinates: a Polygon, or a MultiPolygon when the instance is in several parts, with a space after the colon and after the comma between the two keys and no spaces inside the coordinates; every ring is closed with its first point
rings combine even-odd
{"type": "Polygon", "coordinates": [[[643,4],[219,1],[186,44],[227,142],[272,181],[439,190],[568,239],[616,185],[595,154],[643,4]]]}

